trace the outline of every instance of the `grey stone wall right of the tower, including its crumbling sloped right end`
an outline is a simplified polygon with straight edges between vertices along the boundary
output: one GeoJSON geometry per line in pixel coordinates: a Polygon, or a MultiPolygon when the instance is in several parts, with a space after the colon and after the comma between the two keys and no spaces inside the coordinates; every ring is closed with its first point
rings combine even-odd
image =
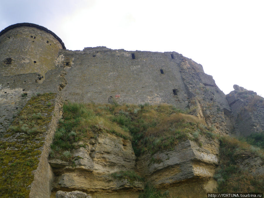
{"type": "Polygon", "coordinates": [[[202,65],[179,53],[106,47],[61,49],[57,67],[65,72],[67,86],[61,90],[64,100],[168,103],[182,110],[192,109],[190,113],[198,114],[209,125],[220,123],[221,132],[229,131],[224,126],[224,109],[230,112],[224,93],[212,76],[204,73],[202,65]]]}

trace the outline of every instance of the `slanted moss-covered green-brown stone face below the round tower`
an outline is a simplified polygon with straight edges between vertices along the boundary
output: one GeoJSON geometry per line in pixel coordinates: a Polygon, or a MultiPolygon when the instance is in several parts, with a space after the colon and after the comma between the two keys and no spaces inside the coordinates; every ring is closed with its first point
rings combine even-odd
{"type": "Polygon", "coordinates": [[[0,140],[0,197],[28,197],[52,118],[55,93],[32,97],[0,140]]]}

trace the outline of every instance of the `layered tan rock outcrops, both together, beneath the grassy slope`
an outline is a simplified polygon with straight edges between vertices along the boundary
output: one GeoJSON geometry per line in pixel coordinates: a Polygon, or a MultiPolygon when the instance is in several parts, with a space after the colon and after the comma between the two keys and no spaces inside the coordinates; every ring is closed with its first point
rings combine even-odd
{"type": "Polygon", "coordinates": [[[202,139],[199,147],[194,141],[184,141],[172,150],[155,154],[143,154],[136,158],[131,141],[111,134],[99,134],[96,139],[85,142],[86,148],[75,150],[75,167],[62,160],[50,160],[55,180],[53,195],[58,190],[87,192],[92,197],[138,197],[144,189],[142,181],[119,180],[111,173],[131,170],[158,189],[172,194],[192,196],[206,194],[216,188],[213,180],[218,164],[218,142],[202,139]],[[196,186],[199,191],[191,192],[186,185],[196,186]],[[197,185],[198,184],[198,185],[197,185]],[[182,191],[185,186],[187,191],[182,191]]]}

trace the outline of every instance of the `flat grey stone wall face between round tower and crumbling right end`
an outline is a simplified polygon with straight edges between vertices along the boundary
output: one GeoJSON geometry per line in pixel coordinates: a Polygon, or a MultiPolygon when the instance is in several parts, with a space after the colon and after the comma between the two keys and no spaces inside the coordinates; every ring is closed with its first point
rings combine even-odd
{"type": "MultiPolygon", "coordinates": [[[[185,109],[188,96],[179,70],[181,59],[182,55],[175,52],[133,52],[106,47],[60,50],[57,66],[65,67],[67,73],[62,97],[96,103],[107,103],[109,97],[119,103],[166,102],[185,109]]],[[[202,70],[200,65],[197,67],[202,70]]]]}

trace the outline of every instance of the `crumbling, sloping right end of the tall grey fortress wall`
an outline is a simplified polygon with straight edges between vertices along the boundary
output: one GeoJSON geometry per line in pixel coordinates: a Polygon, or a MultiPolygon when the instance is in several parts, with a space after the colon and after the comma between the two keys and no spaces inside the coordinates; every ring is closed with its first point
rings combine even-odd
{"type": "Polygon", "coordinates": [[[214,126],[220,134],[229,133],[231,112],[225,94],[217,87],[212,76],[199,72],[196,62],[184,59],[180,72],[190,98],[190,113],[204,119],[209,126],[214,126]]]}

